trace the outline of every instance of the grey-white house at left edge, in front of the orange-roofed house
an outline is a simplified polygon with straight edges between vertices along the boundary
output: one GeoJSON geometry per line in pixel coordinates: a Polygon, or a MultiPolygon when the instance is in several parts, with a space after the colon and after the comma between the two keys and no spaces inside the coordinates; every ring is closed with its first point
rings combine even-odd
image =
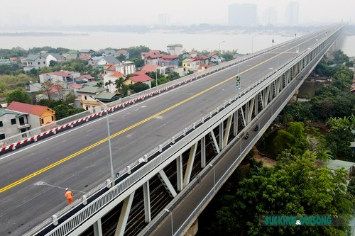
{"type": "Polygon", "coordinates": [[[27,113],[0,109],[0,140],[26,132],[30,128],[27,113]]]}

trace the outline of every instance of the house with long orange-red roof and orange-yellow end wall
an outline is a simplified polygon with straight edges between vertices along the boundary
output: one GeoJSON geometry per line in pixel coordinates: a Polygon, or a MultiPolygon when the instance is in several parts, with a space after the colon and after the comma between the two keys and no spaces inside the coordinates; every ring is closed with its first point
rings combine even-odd
{"type": "Polygon", "coordinates": [[[31,129],[38,128],[55,121],[55,111],[46,106],[31,105],[27,103],[12,101],[7,109],[28,114],[28,124],[31,125],[31,129]]]}

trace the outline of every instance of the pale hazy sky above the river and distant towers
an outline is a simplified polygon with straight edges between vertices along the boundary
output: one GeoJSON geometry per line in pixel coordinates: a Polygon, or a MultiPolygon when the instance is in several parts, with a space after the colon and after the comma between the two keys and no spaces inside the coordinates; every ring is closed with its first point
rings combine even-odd
{"type": "MultiPolygon", "coordinates": [[[[288,0],[15,0],[0,1],[0,27],[17,25],[147,25],[158,24],[159,14],[168,14],[170,24],[227,24],[228,5],[252,3],[258,18],[270,7],[285,21],[288,0]]],[[[355,21],[354,0],[298,0],[299,23],[339,23],[355,21]]],[[[0,28],[1,29],[1,28],[0,28]]],[[[28,28],[31,29],[31,28],[28,28]]]]}

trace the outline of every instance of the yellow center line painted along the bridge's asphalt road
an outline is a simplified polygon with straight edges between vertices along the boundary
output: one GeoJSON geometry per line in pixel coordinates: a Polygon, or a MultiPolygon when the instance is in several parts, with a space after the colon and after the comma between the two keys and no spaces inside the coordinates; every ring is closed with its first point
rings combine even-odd
{"type": "MultiPolygon", "coordinates": [[[[301,45],[301,44],[302,44],[302,43],[300,43],[299,45],[301,45]]],[[[297,46],[295,46],[295,47],[298,47],[299,45],[297,45],[297,46]]],[[[265,62],[268,62],[269,60],[272,60],[273,58],[278,57],[279,55],[281,55],[281,54],[283,54],[283,53],[285,53],[285,52],[288,52],[289,50],[292,50],[292,49],[295,48],[295,47],[292,47],[292,48],[290,48],[290,49],[288,49],[288,50],[285,50],[284,52],[280,52],[280,54],[275,55],[275,56],[273,56],[273,57],[270,57],[268,60],[265,60],[265,61],[263,61],[263,62],[260,62],[259,64],[256,64],[255,66],[250,67],[249,69],[246,69],[246,70],[244,70],[243,72],[240,72],[239,74],[236,74],[236,75],[234,75],[234,76],[232,76],[232,77],[229,77],[228,79],[225,79],[225,80],[222,81],[222,82],[219,82],[218,84],[214,84],[214,86],[211,86],[211,87],[209,87],[208,89],[205,89],[204,91],[200,91],[200,93],[195,94],[195,95],[193,95],[193,96],[190,96],[189,98],[187,98],[187,99],[185,99],[185,100],[183,100],[183,101],[180,101],[179,103],[176,103],[175,105],[170,106],[170,107],[164,109],[163,111],[160,111],[160,112],[156,113],[156,114],[153,115],[153,116],[150,116],[150,117],[148,117],[148,118],[145,118],[144,120],[141,120],[141,121],[139,121],[138,123],[135,123],[134,125],[131,125],[131,126],[125,128],[124,130],[121,130],[121,131],[119,131],[119,132],[117,132],[117,133],[111,135],[110,137],[111,137],[111,138],[112,138],[112,137],[116,137],[116,136],[118,136],[118,135],[121,135],[121,134],[123,134],[123,133],[125,133],[125,132],[127,132],[127,131],[129,131],[129,130],[135,128],[135,127],[137,127],[138,125],[141,125],[141,124],[143,124],[143,123],[146,123],[147,121],[149,121],[149,120],[151,120],[151,119],[153,119],[153,118],[155,118],[155,117],[157,117],[157,116],[160,116],[161,114],[166,113],[167,111],[170,111],[171,109],[173,109],[173,108],[175,108],[175,107],[177,107],[177,106],[180,106],[180,105],[182,105],[183,103],[186,103],[187,101],[190,101],[190,100],[192,100],[192,99],[195,99],[197,96],[200,96],[201,94],[204,94],[204,93],[206,93],[207,91],[210,91],[210,90],[216,88],[217,86],[219,86],[219,85],[221,85],[221,84],[224,84],[224,83],[226,83],[226,82],[229,82],[229,80],[234,79],[234,78],[235,78],[236,76],[238,76],[238,75],[241,75],[241,74],[244,74],[244,73],[246,73],[246,72],[249,72],[249,70],[258,67],[258,66],[260,66],[261,64],[263,64],[263,63],[265,63],[265,62]]],[[[5,186],[4,188],[0,189],[0,193],[4,192],[4,191],[6,191],[6,190],[9,190],[9,189],[11,189],[11,188],[13,188],[14,186],[16,186],[16,185],[18,185],[18,184],[21,184],[21,183],[23,183],[24,181],[27,181],[28,179],[32,179],[34,176],[37,176],[38,174],[42,174],[43,172],[46,172],[46,171],[48,171],[49,169],[52,169],[53,167],[58,166],[59,164],[62,164],[62,163],[64,163],[64,162],[67,162],[68,160],[72,159],[73,157],[76,157],[77,155],[82,154],[83,152],[87,152],[87,151],[91,150],[92,148],[97,147],[98,145],[101,145],[102,143],[106,142],[107,140],[109,140],[108,137],[104,138],[103,140],[100,140],[99,142],[95,142],[94,144],[92,144],[92,145],[90,145],[90,146],[88,146],[88,147],[85,147],[84,149],[82,149],[82,150],[80,150],[80,151],[78,151],[78,152],[75,152],[74,154],[71,154],[71,155],[69,155],[69,156],[67,156],[67,157],[65,157],[65,158],[63,158],[63,159],[60,159],[58,162],[55,162],[55,163],[53,163],[53,164],[50,164],[49,166],[44,167],[43,169],[40,169],[40,170],[38,170],[37,172],[34,172],[34,173],[32,173],[32,174],[29,174],[28,176],[26,176],[26,177],[24,177],[24,178],[22,178],[22,179],[19,179],[18,181],[15,181],[15,182],[13,182],[12,184],[9,184],[8,186],[5,186]]]]}

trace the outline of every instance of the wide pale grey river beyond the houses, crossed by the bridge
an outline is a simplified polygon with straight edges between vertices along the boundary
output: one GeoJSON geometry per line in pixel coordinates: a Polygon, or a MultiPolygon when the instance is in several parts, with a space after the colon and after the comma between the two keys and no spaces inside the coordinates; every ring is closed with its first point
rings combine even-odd
{"type": "MultiPolygon", "coordinates": [[[[0,33],[15,33],[1,31],[0,33]]],[[[22,32],[22,31],[21,31],[22,32]]],[[[107,47],[126,48],[144,45],[166,51],[169,44],[180,43],[185,50],[237,50],[241,54],[256,52],[275,43],[284,43],[293,36],[282,34],[252,33],[121,33],[121,32],[61,32],[67,35],[9,36],[0,35],[0,48],[65,47],[73,50],[100,50],[107,47]],[[85,35],[82,35],[85,34],[85,35]]],[[[302,33],[297,33],[301,36],[302,33]]],[[[348,56],[355,56],[355,36],[346,36],[341,46],[348,56]]]]}

